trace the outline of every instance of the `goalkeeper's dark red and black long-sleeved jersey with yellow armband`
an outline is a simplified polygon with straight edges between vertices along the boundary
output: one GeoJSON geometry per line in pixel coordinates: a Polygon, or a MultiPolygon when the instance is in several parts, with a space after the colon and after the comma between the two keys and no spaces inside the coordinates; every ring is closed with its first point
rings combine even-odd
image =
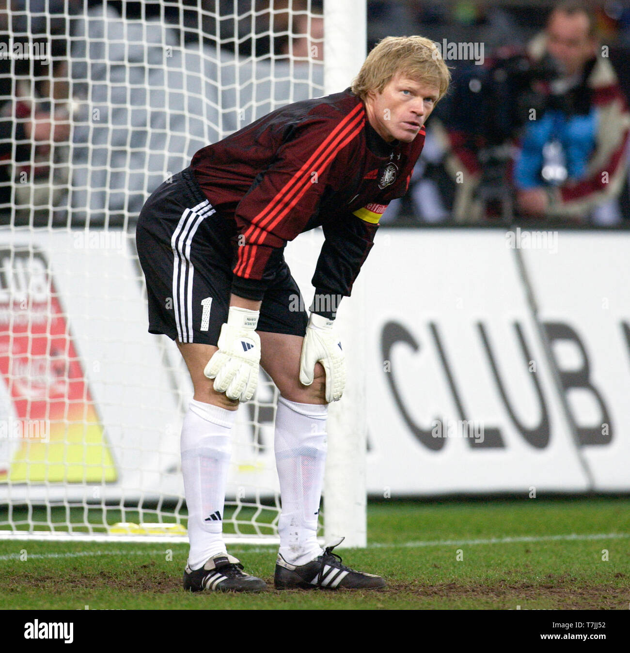
{"type": "Polygon", "coordinates": [[[288,240],[322,226],[316,293],[349,296],[388,203],[402,197],[424,144],[383,140],[350,89],[284,106],[208,145],[191,168],[233,221],[233,292],[261,299],[288,240]]]}

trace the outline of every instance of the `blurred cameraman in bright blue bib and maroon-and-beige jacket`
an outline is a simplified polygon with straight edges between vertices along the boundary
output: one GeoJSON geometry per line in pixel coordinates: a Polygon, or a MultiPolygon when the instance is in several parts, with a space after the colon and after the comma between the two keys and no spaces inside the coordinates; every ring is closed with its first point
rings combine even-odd
{"type": "Polygon", "coordinates": [[[529,54],[550,57],[560,76],[544,82],[546,107],[523,131],[517,206],[531,217],[584,222],[620,193],[630,114],[612,66],[597,56],[595,16],[582,3],[555,7],[529,54]]]}

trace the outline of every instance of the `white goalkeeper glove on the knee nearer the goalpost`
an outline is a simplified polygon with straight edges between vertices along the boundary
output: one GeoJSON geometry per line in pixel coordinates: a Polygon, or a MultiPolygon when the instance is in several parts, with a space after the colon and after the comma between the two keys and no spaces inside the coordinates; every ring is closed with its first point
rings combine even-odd
{"type": "Polygon", "coordinates": [[[346,363],[339,338],[333,332],[333,320],[311,313],[300,356],[300,383],[310,385],[315,364],[326,372],[326,401],[339,401],[346,386],[346,363]]]}

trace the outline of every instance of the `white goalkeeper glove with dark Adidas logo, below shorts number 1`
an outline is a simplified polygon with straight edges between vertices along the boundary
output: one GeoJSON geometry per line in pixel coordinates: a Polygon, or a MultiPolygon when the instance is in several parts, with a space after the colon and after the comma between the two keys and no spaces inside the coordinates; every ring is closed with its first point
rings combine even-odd
{"type": "Polygon", "coordinates": [[[260,338],[256,333],[259,311],[230,306],[221,327],[218,347],[203,374],[214,379],[214,389],[230,399],[248,402],[258,385],[260,338]]]}

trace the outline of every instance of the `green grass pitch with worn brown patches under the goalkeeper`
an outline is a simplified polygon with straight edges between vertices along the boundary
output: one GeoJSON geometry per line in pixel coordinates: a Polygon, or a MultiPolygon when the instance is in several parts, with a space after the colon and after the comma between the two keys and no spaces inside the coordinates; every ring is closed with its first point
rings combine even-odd
{"type": "Polygon", "coordinates": [[[382,502],[368,534],[340,555],[387,589],[278,592],[274,547],[229,547],[256,595],[184,592],[185,545],[0,540],[0,609],[630,607],[629,498],[382,502]]]}

